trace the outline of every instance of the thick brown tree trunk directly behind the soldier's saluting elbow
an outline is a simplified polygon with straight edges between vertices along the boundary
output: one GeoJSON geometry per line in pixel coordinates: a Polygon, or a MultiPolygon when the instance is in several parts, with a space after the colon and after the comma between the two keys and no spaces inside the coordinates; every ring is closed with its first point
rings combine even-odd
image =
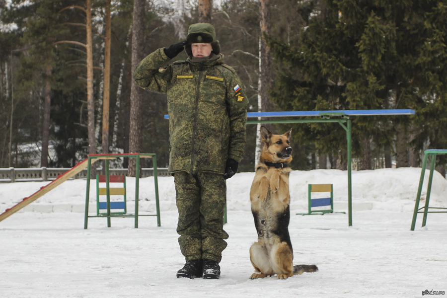
{"type": "MultiPolygon", "coordinates": [[[[145,41],[145,0],[134,1],[134,20],[132,24],[132,72],[138,63],[143,60],[143,49],[145,41]]],[[[143,143],[143,89],[132,80],[131,85],[131,111],[129,152],[139,153],[143,143]]],[[[135,158],[129,158],[129,176],[135,177],[135,158]]]]}

